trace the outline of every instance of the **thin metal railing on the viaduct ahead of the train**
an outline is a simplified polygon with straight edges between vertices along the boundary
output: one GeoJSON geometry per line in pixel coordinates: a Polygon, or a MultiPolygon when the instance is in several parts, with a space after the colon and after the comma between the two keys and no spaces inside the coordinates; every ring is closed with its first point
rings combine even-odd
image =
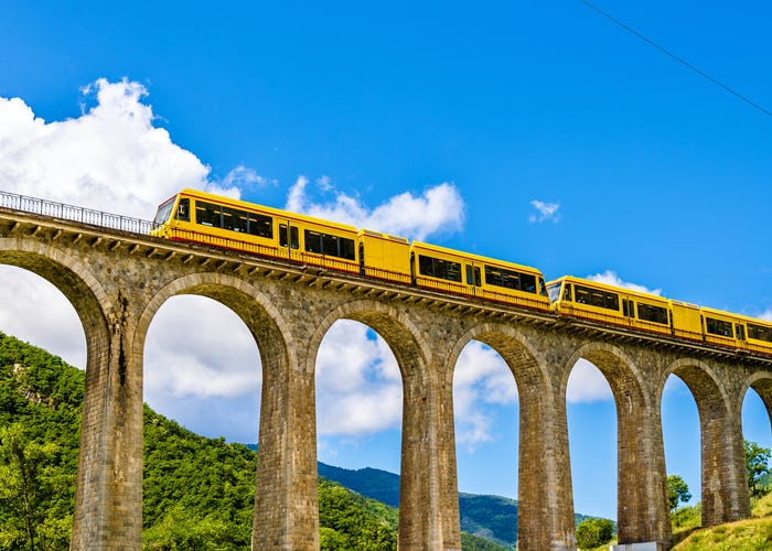
{"type": "Polygon", "coordinates": [[[153,223],[139,218],[131,218],[119,214],[103,213],[92,208],[84,208],[64,203],[56,203],[25,195],[17,195],[0,191],[0,207],[23,210],[25,213],[51,216],[65,220],[79,222],[103,228],[119,229],[135,234],[148,234],[153,223]]]}

